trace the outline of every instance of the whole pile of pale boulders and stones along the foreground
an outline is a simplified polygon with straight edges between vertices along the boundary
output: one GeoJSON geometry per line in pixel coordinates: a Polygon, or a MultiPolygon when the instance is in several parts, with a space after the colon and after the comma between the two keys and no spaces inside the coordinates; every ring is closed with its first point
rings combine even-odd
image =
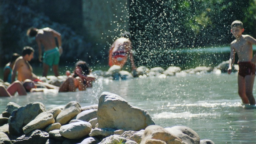
{"type": "MultiPolygon", "coordinates": [[[[0,116],[0,143],[4,144],[213,144],[186,126],[162,128],[150,114],[121,96],[103,92],[99,103],[45,109],[43,103],[19,106],[10,102],[0,116]]],[[[174,124],[175,125],[175,124],[174,124]]]]}

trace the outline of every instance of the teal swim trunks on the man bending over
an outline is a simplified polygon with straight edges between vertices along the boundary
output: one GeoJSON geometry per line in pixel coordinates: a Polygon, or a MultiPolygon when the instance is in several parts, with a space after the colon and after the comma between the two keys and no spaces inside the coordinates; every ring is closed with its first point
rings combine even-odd
{"type": "Polygon", "coordinates": [[[59,48],[56,47],[54,49],[48,50],[44,52],[43,63],[52,66],[59,64],[59,48]]]}

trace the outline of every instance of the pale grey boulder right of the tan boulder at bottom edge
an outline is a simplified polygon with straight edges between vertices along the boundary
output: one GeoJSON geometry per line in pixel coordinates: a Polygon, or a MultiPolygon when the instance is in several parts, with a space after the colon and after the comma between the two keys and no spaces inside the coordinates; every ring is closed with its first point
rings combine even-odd
{"type": "Polygon", "coordinates": [[[200,137],[199,135],[192,130],[191,128],[188,128],[186,126],[174,126],[171,128],[165,128],[169,133],[177,136],[178,138],[182,139],[185,143],[193,143],[193,144],[199,144],[200,143],[200,137]]]}

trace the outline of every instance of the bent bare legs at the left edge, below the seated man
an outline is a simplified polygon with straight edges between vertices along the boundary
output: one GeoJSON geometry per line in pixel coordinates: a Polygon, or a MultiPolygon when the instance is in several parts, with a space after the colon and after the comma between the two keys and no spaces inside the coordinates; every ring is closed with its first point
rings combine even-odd
{"type": "Polygon", "coordinates": [[[4,85],[0,85],[0,96],[10,97],[18,92],[19,96],[27,95],[25,88],[20,81],[14,81],[7,88],[4,85]]]}

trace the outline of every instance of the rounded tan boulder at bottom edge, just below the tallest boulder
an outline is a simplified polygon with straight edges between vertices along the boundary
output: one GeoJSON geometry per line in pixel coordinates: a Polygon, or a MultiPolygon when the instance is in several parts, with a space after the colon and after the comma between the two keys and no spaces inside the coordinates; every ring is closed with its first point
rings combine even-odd
{"type": "Polygon", "coordinates": [[[185,144],[182,140],[158,125],[149,125],[142,136],[140,144],[150,143],[185,144]]]}

